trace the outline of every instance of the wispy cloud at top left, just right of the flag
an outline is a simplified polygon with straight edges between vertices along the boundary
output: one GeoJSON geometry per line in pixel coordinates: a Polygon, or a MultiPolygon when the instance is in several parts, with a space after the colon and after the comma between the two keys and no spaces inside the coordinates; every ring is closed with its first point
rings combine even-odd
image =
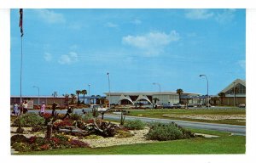
{"type": "Polygon", "coordinates": [[[62,14],[55,13],[49,9],[34,9],[38,16],[49,24],[65,23],[66,20],[62,14]]]}

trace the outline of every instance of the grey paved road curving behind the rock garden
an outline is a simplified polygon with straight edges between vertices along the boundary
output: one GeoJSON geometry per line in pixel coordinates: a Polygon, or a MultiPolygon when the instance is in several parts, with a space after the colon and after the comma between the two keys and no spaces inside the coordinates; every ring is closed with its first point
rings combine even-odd
{"type": "MultiPolygon", "coordinates": [[[[109,120],[119,120],[120,115],[105,115],[105,119],[109,120]]],[[[225,125],[225,124],[215,124],[215,123],[204,123],[204,122],[194,122],[194,121],[178,121],[178,120],[166,120],[166,119],[158,119],[158,118],[145,118],[145,117],[137,117],[137,116],[126,116],[125,120],[135,120],[140,119],[145,122],[175,122],[179,126],[190,127],[190,128],[199,128],[199,129],[207,129],[207,130],[217,130],[220,132],[231,132],[234,135],[246,135],[246,126],[238,126],[238,125],[225,125]]]]}

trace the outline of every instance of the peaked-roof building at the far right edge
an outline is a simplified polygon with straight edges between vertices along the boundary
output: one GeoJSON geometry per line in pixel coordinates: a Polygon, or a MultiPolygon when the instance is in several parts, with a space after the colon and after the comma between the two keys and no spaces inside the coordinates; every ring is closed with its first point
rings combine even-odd
{"type": "Polygon", "coordinates": [[[218,93],[224,93],[224,96],[219,96],[221,103],[224,105],[239,105],[246,104],[246,81],[241,79],[236,79],[231,82],[229,86],[225,87],[222,91],[218,93]]]}

